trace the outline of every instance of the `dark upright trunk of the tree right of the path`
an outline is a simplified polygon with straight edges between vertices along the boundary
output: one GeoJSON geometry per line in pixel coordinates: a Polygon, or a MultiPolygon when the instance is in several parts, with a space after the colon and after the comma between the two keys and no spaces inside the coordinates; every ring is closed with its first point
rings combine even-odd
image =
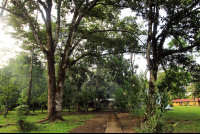
{"type": "MultiPolygon", "coordinates": [[[[149,15],[148,15],[148,39],[147,39],[147,65],[150,70],[150,80],[149,80],[149,103],[150,105],[147,106],[146,112],[148,115],[153,116],[155,114],[155,111],[153,110],[153,105],[155,105],[153,102],[154,100],[154,82],[157,80],[157,73],[158,73],[158,64],[159,60],[161,60],[161,57],[158,57],[158,50],[157,50],[157,40],[156,40],[156,34],[157,34],[157,26],[158,26],[158,5],[154,5],[152,0],[149,0],[149,15]],[[156,13],[154,12],[154,10],[156,13]],[[153,16],[155,16],[153,18],[153,16]],[[153,29],[152,29],[153,27],[153,29]],[[152,56],[152,58],[151,58],[152,56]]],[[[147,120],[147,116],[145,117],[145,120],[147,120]]]]}

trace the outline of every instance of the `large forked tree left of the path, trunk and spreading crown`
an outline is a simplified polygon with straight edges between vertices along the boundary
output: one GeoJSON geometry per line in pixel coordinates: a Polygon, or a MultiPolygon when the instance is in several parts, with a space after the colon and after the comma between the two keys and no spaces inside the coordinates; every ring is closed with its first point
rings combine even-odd
{"type": "MultiPolygon", "coordinates": [[[[37,46],[43,52],[47,60],[48,112],[47,112],[47,118],[45,120],[63,119],[61,111],[62,111],[63,88],[65,85],[64,82],[67,69],[72,65],[74,65],[83,57],[99,55],[92,51],[86,51],[85,53],[82,53],[82,55],[78,56],[76,56],[77,53],[74,53],[76,52],[75,51],[76,48],[80,49],[83,48],[82,45],[84,43],[81,43],[83,39],[99,31],[98,23],[97,25],[94,25],[88,30],[86,27],[81,27],[83,26],[82,22],[85,21],[85,18],[89,18],[90,22],[94,20],[104,20],[104,19],[107,20],[107,23],[112,22],[112,20],[114,20],[114,18],[116,18],[116,16],[118,15],[117,10],[119,8],[117,7],[120,7],[120,3],[121,3],[120,1],[110,1],[110,0],[109,1],[47,0],[45,2],[41,0],[37,1],[11,0],[8,3],[9,6],[7,6],[7,8],[0,7],[3,10],[6,10],[10,13],[9,14],[10,19],[16,17],[18,18],[16,19],[15,24],[13,24],[17,31],[23,30],[25,26],[29,27],[34,36],[35,42],[37,42],[37,46]],[[57,16],[55,17],[56,18],[55,21],[52,19],[53,5],[56,5],[55,10],[57,16]],[[115,6],[110,6],[110,5],[115,5],[115,6]],[[103,9],[106,9],[107,12],[105,13],[103,9]],[[113,10],[115,12],[112,12],[113,10]],[[40,21],[37,19],[38,15],[37,14],[35,15],[35,12],[38,12],[42,16],[44,27],[40,25],[40,21]],[[71,13],[73,15],[70,24],[65,23],[66,20],[65,15],[67,13],[71,13]],[[67,26],[67,28],[65,28],[65,26],[67,26]],[[94,30],[93,28],[97,28],[97,30],[94,30]],[[62,35],[61,34],[62,30],[65,32],[63,34],[64,37],[60,37],[62,35]],[[45,35],[42,34],[44,31],[45,35]],[[55,76],[56,54],[60,55],[57,80],[55,76]]],[[[113,24],[111,26],[113,26],[113,24]]],[[[102,30],[102,32],[106,31],[112,31],[112,30],[110,29],[102,30]]],[[[114,31],[119,32],[122,30],[119,30],[115,27],[114,31]]]]}

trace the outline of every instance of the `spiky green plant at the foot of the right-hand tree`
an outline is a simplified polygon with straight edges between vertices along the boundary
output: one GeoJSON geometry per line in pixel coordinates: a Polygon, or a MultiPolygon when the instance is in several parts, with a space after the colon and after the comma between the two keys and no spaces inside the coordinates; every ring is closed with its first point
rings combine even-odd
{"type": "MultiPolygon", "coordinates": [[[[151,76],[153,77],[153,76],[151,76]]],[[[159,92],[155,81],[155,92],[152,94],[152,100],[149,99],[148,92],[144,90],[144,102],[146,104],[146,122],[141,125],[140,133],[172,133],[175,129],[176,124],[166,126],[164,122],[165,108],[168,105],[169,92],[167,88],[163,92],[159,92]],[[160,104],[158,104],[160,102],[160,104]],[[151,109],[152,108],[152,109],[151,109]]]]}

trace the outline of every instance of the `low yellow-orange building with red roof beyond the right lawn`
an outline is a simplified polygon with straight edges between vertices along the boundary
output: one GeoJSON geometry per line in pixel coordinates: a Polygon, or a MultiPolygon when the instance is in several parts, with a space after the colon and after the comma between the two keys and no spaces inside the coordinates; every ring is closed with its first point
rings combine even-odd
{"type": "Polygon", "coordinates": [[[176,99],[172,100],[173,106],[194,106],[200,105],[200,98],[194,99],[176,99]]]}

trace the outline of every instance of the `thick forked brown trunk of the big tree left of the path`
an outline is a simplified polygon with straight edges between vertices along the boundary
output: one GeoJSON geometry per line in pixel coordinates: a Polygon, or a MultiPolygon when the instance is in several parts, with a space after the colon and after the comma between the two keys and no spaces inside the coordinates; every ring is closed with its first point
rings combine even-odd
{"type": "MultiPolygon", "coordinates": [[[[65,78],[65,69],[60,69],[59,78],[55,79],[55,46],[52,38],[51,26],[51,8],[52,0],[47,0],[48,8],[46,9],[46,35],[47,35],[47,71],[48,71],[48,112],[49,120],[62,119],[62,97],[65,78]],[[63,79],[62,79],[63,78],[63,79]]],[[[55,44],[56,45],[56,44],[55,44]]]]}

